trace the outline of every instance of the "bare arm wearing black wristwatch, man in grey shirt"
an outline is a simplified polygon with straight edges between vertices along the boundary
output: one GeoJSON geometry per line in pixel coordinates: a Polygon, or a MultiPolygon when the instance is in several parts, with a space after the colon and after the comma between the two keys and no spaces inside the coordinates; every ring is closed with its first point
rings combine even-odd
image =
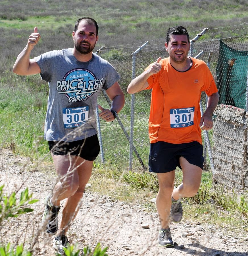
{"type": "MultiPolygon", "coordinates": [[[[118,82],[115,82],[109,89],[106,90],[109,98],[111,99],[111,108],[110,110],[114,110],[117,113],[119,113],[125,103],[124,93],[122,92],[120,85],[118,82]]],[[[99,110],[101,110],[101,113],[99,113],[99,116],[104,119],[107,122],[114,120],[114,115],[109,109],[104,109],[102,106],[98,105],[99,110]]]]}

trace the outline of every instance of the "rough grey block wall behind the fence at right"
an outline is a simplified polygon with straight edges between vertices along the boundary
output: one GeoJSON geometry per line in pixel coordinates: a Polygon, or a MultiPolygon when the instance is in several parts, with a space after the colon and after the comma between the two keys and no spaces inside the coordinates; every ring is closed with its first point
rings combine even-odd
{"type": "Polygon", "coordinates": [[[218,105],[213,126],[214,179],[231,189],[248,188],[247,123],[245,110],[218,105]]]}

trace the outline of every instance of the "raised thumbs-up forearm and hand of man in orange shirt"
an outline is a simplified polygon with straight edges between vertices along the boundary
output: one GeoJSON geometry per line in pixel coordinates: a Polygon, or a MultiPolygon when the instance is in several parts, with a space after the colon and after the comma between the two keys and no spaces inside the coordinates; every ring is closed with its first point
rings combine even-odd
{"type": "Polygon", "coordinates": [[[145,70],[141,75],[137,76],[130,84],[128,85],[128,93],[136,93],[148,87],[147,79],[153,75],[157,74],[161,70],[161,57],[159,57],[155,62],[151,63],[147,70],[145,70]]]}

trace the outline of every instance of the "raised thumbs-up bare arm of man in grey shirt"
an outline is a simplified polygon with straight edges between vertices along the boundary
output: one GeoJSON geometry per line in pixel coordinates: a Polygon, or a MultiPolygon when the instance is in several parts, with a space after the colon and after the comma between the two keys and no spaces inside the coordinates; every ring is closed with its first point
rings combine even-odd
{"type": "Polygon", "coordinates": [[[30,59],[30,53],[34,46],[38,43],[40,39],[40,34],[38,33],[37,27],[34,28],[34,33],[32,33],[28,38],[28,44],[18,55],[16,62],[13,67],[13,72],[17,75],[34,75],[41,72],[39,65],[35,59],[30,59]]]}

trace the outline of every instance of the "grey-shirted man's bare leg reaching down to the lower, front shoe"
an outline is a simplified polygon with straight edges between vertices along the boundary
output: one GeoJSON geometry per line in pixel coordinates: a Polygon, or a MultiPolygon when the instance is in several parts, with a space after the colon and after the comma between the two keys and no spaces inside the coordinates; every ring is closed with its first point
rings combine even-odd
{"type": "Polygon", "coordinates": [[[77,173],[79,186],[77,191],[66,199],[63,208],[62,221],[57,235],[66,234],[74,218],[78,214],[78,204],[83,196],[85,186],[91,176],[93,161],[84,160],[83,158],[76,156],[76,166],[78,166],[77,173]]]}

